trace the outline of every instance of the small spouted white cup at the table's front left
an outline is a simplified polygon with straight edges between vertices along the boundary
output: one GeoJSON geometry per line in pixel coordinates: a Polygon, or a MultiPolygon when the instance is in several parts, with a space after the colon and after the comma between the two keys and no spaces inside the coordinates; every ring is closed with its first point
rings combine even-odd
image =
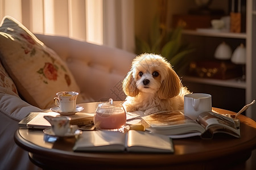
{"type": "Polygon", "coordinates": [[[44,116],[46,120],[51,124],[52,131],[55,135],[63,136],[70,130],[70,117],[67,116],[44,116]]]}

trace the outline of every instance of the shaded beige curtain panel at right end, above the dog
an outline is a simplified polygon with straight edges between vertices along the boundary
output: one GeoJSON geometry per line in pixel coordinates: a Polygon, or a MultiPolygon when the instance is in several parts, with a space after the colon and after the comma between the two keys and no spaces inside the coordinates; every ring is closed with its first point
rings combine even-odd
{"type": "Polygon", "coordinates": [[[134,1],[104,2],[104,44],[135,51],[134,1]]]}

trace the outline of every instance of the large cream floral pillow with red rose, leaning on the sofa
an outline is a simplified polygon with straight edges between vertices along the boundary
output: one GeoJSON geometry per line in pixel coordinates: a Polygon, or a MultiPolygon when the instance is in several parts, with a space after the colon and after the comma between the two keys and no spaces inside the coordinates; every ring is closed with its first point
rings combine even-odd
{"type": "Polygon", "coordinates": [[[53,107],[59,91],[80,92],[65,62],[10,16],[0,26],[0,59],[19,94],[36,107],[53,107]]]}

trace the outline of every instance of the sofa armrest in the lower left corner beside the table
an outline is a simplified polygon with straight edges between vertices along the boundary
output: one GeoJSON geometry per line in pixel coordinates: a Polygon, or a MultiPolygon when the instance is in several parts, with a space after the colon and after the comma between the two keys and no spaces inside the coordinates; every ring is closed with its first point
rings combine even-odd
{"type": "Polygon", "coordinates": [[[39,169],[28,158],[27,151],[14,142],[18,122],[30,112],[42,112],[18,96],[0,93],[0,169],[39,169]]]}

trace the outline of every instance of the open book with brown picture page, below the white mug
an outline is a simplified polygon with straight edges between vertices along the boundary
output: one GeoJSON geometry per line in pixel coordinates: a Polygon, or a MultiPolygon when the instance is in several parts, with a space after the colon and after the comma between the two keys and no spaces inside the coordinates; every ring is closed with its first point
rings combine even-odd
{"type": "Polygon", "coordinates": [[[201,113],[196,121],[181,112],[161,112],[142,117],[149,130],[171,138],[200,135],[212,138],[214,133],[226,133],[240,138],[240,121],[214,112],[201,113]]]}

